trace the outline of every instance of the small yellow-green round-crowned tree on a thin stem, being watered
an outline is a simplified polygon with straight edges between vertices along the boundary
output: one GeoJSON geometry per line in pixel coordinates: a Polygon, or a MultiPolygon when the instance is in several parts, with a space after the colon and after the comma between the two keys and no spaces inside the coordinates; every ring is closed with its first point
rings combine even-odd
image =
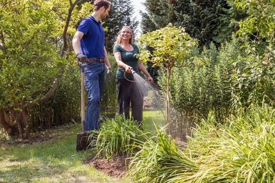
{"type": "Polygon", "coordinates": [[[140,58],[147,62],[150,60],[154,65],[166,69],[167,72],[167,90],[166,90],[166,123],[167,132],[171,134],[170,128],[170,76],[172,68],[184,67],[186,58],[192,48],[196,46],[197,40],[191,38],[182,27],[175,27],[169,24],[166,27],[157,29],[151,33],[146,33],[140,37],[141,45],[147,45],[153,51],[144,50],[140,58]]]}

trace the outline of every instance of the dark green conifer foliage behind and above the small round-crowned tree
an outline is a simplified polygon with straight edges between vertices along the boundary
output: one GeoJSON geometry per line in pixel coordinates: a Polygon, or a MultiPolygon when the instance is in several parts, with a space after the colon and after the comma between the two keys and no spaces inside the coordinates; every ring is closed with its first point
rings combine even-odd
{"type": "Polygon", "coordinates": [[[186,32],[198,39],[201,46],[230,40],[237,25],[235,19],[239,19],[239,14],[233,14],[235,11],[230,9],[226,0],[146,0],[145,7],[147,11],[142,14],[141,22],[143,33],[172,23],[185,27],[186,32]]]}

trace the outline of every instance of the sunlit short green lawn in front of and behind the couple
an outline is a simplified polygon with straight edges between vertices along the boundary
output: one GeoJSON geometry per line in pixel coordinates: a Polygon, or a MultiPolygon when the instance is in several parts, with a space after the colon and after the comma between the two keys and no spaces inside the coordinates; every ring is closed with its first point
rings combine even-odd
{"type": "MultiPolygon", "coordinates": [[[[160,111],[144,111],[144,129],[154,130],[164,124],[160,111]]],[[[0,182],[129,182],[110,177],[84,164],[90,155],[76,151],[76,134],[80,124],[73,124],[47,131],[49,141],[19,144],[0,142],[0,182]]]]}

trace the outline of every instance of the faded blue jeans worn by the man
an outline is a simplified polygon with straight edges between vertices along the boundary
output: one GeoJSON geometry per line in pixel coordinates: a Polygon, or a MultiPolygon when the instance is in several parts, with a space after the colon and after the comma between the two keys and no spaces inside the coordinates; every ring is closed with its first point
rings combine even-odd
{"type": "Polygon", "coordinates": [[[85,68],[87,106],[85,130],[99,130],[99,114],[105,79],[105,63],[89,62],[85,68]]]}

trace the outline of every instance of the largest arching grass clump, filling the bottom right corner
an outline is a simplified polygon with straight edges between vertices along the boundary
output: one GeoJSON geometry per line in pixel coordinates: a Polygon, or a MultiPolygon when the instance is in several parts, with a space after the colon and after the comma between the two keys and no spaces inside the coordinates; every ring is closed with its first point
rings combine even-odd
{"type": "Polygon", "coordinates": [[[275,109],[251,107],[220,125],[210,117],[189,138],[194,182],[275,182],[275,109]],[[195,156],[193,156],[195,158],[195,156]]]}

